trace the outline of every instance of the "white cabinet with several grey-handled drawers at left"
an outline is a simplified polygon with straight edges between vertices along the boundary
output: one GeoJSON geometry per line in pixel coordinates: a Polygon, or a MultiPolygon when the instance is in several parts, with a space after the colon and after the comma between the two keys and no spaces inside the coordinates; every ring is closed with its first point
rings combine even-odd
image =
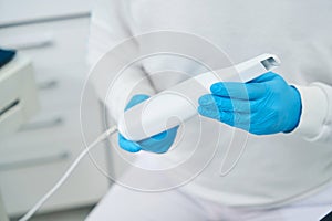
{"type": "MultiPolygon", "coordinates": [[[[15,6],[21,11],[0,13],[0,46],[18,48],[32,60],[41,102],[40,113],[29,124],[0,140],[0,189],[11,215],[31,208],[83,150],[80,99],[87,75],[90,22],[84,2],[0,0],[0,12],[3,7],[13,10],[15,6]]],[[[98,102],[90,90],[89,112],[98,116],[98,102]]],[[[103,124],[101,117],[86,124],[89,130],[84,133],[91,141],[101,134],[103,124]]],[[[106,169],[103,145],[93,150],[93,157],[106,169]]],[[[106,192],[108,181],[87,157],[41,211],[95,203],[106,192]]]]}

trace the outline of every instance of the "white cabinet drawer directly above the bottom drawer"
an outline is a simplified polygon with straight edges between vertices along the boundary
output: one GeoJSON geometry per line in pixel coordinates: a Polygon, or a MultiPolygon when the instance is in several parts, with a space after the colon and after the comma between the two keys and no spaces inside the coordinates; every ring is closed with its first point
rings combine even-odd
{"type": "MultiPolygon", "coordinates": [[[[90,107],[90,113],[94,112],[94,116],[98,116],[97,106],[90,107]]],[[[85,134],[91,137],[96,137],[101,131],[100,118],[89,118],[89,128],[85,134]]],[[[82,129],[80,120],[80,109],[61,109],[56,112],[42,112],[34,116],[28,124],[23,125],[21,129],[9,137],[9,139],[1,140],[0,159],[6,156],[3,151],[10,151],[13,155],[19,152],[24,155],[24,150],[31,151],[30,148],[45,146],[48,144],[63,143],[63,140],[77,140],[76,146],[82,145],[82,129]]],[[[45,147],[49,148],[49,147],[45,147]]]]}

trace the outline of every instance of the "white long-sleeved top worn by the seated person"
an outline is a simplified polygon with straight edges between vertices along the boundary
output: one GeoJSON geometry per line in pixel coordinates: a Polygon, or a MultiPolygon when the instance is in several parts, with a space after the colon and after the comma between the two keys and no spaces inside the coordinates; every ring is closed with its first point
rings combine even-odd
{"type": "MultiPolygon", "coordinates": [[[[232,140],[234,133],[243,134],[201,117],[206,128],[210,128],[199,143],[201,157],[206,157],[203,149],[210,155],[216,147],[215,128],[221,131],[220,140],[208,166],[184,186],[193,194],[228,206],[274,207],[312,194],[331,183],[331,10],[330,0],[98,0],[92,17],[89,60],[95,64],[126,38],[159,30],[204,38],[221,49],[234,63],[266,52],[277,54],[282,65],[276,72],[294,84],[301,94],[302,116],[298,128],[289,134],[248,135],[240,159],[227,176],[221,176],[220,166],[229,144],[235,148],[243,144],[241,139],[232,140]]],[[[195,63],[167,56],[147,59],[117,80],[115,96],[106,101],[114,122],[133,94],[154,94],[183,81],[181,77],[167,81],[166,75],[163,81],[151,77],[133,93],[132,88],[142,78],[169,67],[186,73],[199,72],[195,63]]],[[[114,73],[105,74],[115,77],[114,73]]],[[[102,80],[94,84],[103,96],[107,85],[102,80]]],[[[193,140],[199,136],[198,126],[197,122],[186,123],[186,136],[175,150],[165,154],[165,158],[170,161],[187,159],[188,152],[193,154],[193,140]]],[[[152,156],[143,158],[153,160],[152,156]]],[[[187,170],[177,172],[185,176],[187,170]]]]}

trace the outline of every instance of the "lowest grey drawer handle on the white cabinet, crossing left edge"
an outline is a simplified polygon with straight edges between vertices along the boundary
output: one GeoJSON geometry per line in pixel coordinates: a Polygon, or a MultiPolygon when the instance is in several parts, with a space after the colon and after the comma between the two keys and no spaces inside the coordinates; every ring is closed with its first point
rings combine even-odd
{"type": "Polygon", "coordinates": [[[0,170],[10,170],[39,165],[46,165],[51,162],[66,160],[70,158],[70,151],[62,149],[53,152],[43,152],[39,156],[23,156],[22,158],[17,157],[11,159],[2,159],[0,160],[0,170]]]}

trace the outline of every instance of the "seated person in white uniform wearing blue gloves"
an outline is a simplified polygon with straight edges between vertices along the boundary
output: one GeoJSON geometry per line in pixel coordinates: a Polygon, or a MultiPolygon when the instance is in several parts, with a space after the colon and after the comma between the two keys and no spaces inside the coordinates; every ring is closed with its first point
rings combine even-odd
{"type": "MultiPolygon", "coordinates": [[[[227,176],[217,172],[222,159],[217,154],[203,172],[179,188],[146,192],[114,185],[87,220],[319,220],[332,210],[331,9],[329,0],[97,0],[89,45],[91,65],[129,36],[170,30],[212,42],[234,63],[271,52],[281,57],[282,66],[278,74],[268,73],[245,85],[250,114],[238,115],[247,110],[238,109],[241,95],[236,93],[243,84],[215,85],[200,98],[199,113],[208,124],[221,125],[225,143],[234,127],[249,133],[240,160],[227,176]],[[228,101],[232,105],[222,106],[228,101]],[[250,127],[242,127],[241,120],[248,118],[250,127]]],[[[114,85],[116,98],[105,104],[114,123],[125,108],[178,83],[151,77],[133,94],[137,82],[167,67],[164,61],[143,62],[136,74],[114,85]]],[[[195,70],[195,65],[178,66],[186,73],[195,70]]],[[[94,84],[96,91],[105,90],[101,82],[94,84]]],[[[195,124],[186,128],[191,127],[195,124]]],[[[162,149],[121,135],[115,143],[138,158],[144,158],[145,150],[167,155],[178,131],[168,133],[174,136],[158,144],[162,149]]]]}

